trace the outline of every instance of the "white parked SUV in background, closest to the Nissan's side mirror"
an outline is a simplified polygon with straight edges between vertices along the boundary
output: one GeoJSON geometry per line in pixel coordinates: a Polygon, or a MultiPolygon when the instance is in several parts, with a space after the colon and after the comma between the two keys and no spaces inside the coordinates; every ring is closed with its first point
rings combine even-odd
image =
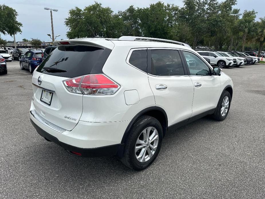
{"type": "Polygon", "coordinates": [[[209,58],[211,64],[216,65],[220,68],[230,67],[236,65],[236,59],[231,57],[224,57],[218,52],[213,51],[197,51],[201,56],[209,58]]]}

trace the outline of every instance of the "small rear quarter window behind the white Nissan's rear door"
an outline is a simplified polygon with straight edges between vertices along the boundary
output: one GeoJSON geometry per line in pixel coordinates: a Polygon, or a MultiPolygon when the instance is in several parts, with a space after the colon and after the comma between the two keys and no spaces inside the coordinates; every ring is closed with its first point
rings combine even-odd
{"type": "Polygon", "coordinates": [[[147,72],[147,50],[134,50],[129,63],[141,71],[147,72]]]}

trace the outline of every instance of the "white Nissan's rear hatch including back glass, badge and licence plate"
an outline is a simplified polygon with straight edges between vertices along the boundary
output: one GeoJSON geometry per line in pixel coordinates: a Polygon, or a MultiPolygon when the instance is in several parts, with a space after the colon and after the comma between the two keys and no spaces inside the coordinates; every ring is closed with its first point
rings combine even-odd
{"type": "Polygon", "coordinates": [[[64,45],[57,43],[58,48],[44,59],[32,77],[36,112],[66,130],[72,130],[82,115],[83,95],[70,93],[63,81],[103,73],[103,65],[111,53],[111,49],[102,46],[104,42],[99,45],[97,41],[87,40],[62,41],[64,45]]]}

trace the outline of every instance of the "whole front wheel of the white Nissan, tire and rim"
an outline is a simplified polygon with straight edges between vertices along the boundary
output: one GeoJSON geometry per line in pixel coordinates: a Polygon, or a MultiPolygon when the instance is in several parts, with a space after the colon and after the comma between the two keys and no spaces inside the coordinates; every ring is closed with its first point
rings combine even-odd
{"type": "Polygon", "coordinates": [[[231,95],[228,91],[224,91],[219,99],[213,118],[222,121],[228,115],[231,104],[231,95]]]}

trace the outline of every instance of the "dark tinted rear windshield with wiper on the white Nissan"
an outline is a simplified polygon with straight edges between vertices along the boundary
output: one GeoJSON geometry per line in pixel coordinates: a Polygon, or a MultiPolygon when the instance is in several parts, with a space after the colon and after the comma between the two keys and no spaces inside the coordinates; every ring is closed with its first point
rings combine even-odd
{"type": "Polygon", "coordinates": [[[60,77],[103,73],[111,50],[93,46],[60,45],[40,64],[37,71],[60,77]]]}

